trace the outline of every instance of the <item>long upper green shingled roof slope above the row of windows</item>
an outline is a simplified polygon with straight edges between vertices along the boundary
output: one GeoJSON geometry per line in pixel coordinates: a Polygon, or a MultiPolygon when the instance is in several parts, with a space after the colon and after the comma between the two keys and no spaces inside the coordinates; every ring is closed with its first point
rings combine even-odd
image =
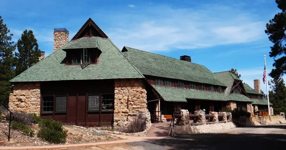
{"type": "Polygon", "coordinates": [[[199,64],[126,46],[122,49],[122,52],[126,58],[145,75],[225,86],[215,78],[210,70],[199,64]],[[128,51],[126,51],[125,48],[128,51]]]}

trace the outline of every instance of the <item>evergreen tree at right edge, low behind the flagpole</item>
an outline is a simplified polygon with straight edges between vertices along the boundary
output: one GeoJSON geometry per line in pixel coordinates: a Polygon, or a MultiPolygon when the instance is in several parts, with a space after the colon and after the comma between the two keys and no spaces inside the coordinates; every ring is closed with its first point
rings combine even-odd
{"type": "Polygon", "coordinates": [[[286,86],[283,78],[276,77],[268,84],[272,89],[269,91],[269,102],[273,104],[274,114],[286,112],[286,86]]]}

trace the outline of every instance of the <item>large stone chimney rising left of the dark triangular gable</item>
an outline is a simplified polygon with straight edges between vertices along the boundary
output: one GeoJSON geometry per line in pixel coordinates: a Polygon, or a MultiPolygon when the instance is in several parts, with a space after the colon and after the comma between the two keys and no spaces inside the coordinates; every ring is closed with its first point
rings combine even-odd
{"type": "Polygon", "coordinates": [[[69,42],[67,29],[54,29],[54,52],[69,42]]]}

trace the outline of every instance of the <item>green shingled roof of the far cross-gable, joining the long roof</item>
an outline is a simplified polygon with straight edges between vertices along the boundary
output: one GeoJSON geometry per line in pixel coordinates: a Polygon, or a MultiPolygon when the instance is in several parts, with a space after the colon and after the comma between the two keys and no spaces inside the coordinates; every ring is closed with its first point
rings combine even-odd
{"type": "Polygon", "coordinates": [[[217,80],[219,80],[220,82],[222,82],[223,84],[227,86],[227,88],[225,89],[225,94],[227,95],[229,95],[231,92],[231,87],[233,85],[234,80],[240,80],[239,78],[237,78],[234,74],[230,73],[229,71],[216,72],[214,74],[217,80]]]}

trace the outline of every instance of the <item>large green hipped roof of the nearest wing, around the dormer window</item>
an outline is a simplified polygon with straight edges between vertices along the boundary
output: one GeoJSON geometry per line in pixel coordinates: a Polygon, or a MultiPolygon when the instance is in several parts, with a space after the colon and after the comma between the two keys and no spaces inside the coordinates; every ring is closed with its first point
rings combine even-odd
{"type": "Polygon", "coordinates": [[[16,76],[10,82],[93,80],[114,78],[144,78],[144,76],[124,57],[109,38],[83,37],[70,41],[59,50],[16,76]],[[97,46],[102,50],[98,64],[86,67],[65,66],[65,48],[97,46]]]}

